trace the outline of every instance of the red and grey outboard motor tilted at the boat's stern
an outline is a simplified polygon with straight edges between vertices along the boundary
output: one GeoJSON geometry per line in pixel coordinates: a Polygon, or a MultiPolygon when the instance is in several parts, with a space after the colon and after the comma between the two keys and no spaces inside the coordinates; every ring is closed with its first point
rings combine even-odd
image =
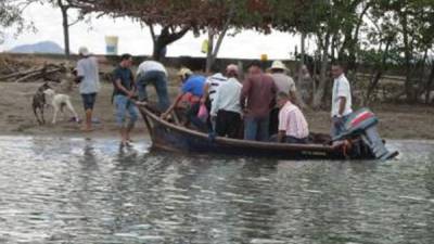
{"type": "Polygon", "coordinates": [[[390,152],[385,147],[383,140],[376,131],[379,119],[369,108],[361,108],[349,115],[344,127],[345,130],[333,138],[333,141],[353,139],[360,137],[372,154],[378,159],[390,159],[395,157],[398,152],[390,152]]]}

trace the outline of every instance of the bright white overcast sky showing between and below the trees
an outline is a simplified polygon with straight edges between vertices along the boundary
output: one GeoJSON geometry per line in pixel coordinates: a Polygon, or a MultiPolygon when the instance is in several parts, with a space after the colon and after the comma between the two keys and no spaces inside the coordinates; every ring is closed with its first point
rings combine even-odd
{"type": "MultiPolygon", "coordinates": [[[[51,40],[63,47],[62,16],[59,9],[50,5],[33,4],[24,11],[24,17],[33,22],[36,33],[25,31],[17,37],[13,28],[7,29],[5,41],[0,44],[0,51],[8,51],[16,46],[51,40]]],[[[74,15],[74,13],[72,13],[74,15]]],[[[152,39],[149,28],[128,18],[92,17],[90,23],[80,22],[69,28],[71,50],[77,52],[79,47],[88,47],[92,53],[105,53],[105,36],[118,36],[118,52],[133,55],[152,53],[152,39]]],[[[233,33],[233,31],[230,31],[233,33]]],[[[188,33],[182,39],[174,42],[167,49],[168,56],[205,56],[201,53],[205,36],[195,38],[188,33]]],[[[296,36],[273,31],[263,35],[253,30],[243,30],[234,37],[227,36],[220,48],[219,57],[259,59],[267,54],[269,59],[291,59],[296,36]]],[[[308,47],[309,48],[309,47],[308,47]]]]}

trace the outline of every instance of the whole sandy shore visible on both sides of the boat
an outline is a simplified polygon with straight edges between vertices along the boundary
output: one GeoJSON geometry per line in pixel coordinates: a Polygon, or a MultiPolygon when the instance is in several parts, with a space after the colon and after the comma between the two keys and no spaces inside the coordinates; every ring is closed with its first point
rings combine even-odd
{"type": "MultiPolygon", "coordinates": [[[[39,126],[31,111],[31,99],[40,82],[11,84],[0,82],[0,134],[21,136],[74,136],[87,138],[118,137],[114,120],[114,107],[111,103],[113,87],[102,84],[98,95],[94,115],[99,124],[94,124],[92,132],[81,132],[77,123],[69,121],[71,115],[60,116],[56,125],[52,125],[52,108],[46,110],[47,124],[39,126]]],[[[52,84],[55,87],[55,84],[52,84]]],[[[171,93],[176,88],[171,88],[171,93]]],[[[154,95],[153,89],[151,99],[154,95]]],[[[71,92],[73,104],[80,117],[84,116],[81,99],[75,87],[71,92]]],[[[380,117],[380,133],[387,139],[434,139],[434,107],[411,105],[376,105],[372,110],[380,117]]],[[[306,111],[311,131],[328,132],[330,127],[329,112],[306,111]]],[[[135,129],[135,138],[146,137],[144,123],[140,120],[135,129]]]]}

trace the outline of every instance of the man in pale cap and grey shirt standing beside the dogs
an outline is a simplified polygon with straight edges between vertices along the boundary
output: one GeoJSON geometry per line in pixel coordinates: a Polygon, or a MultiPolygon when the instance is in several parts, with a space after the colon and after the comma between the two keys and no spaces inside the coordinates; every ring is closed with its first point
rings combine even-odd
{"type": "Polygon", "coordinates": [[[100,77],[98,70],[98,61],[95,56],[90,55],[89,50],[81,47],[78,50],[80,60],[77,62],[76,81],[79,84],[79,90],[86,113],[86,125],[84,131],[92,130],[92,112],[100,90],[100,77]]]}

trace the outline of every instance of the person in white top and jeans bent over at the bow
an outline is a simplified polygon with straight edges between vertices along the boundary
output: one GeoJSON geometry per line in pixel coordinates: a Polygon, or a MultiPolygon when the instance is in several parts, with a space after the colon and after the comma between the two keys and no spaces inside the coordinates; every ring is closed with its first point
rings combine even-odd
{"type": "Polygon", "coordinates": [[[148,102],[146,86],[152,84],[158,95],[158,108],[161,111],[166,111],[169,107],[167,70],[163,64],[151,60],[142,62],[137,69],[136,82],[140,101],[148,102]]]}

